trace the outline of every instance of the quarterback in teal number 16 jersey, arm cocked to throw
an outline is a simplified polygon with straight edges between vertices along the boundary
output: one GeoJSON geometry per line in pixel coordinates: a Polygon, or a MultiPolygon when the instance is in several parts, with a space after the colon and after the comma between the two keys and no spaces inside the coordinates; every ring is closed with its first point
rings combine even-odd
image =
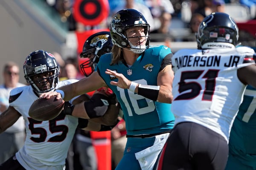
{"type": "Polygon", "coordinates": [[[120,102],[128,138],[116,170],[152,170],[175,121],[172,52],[163,45],[149,46],[149,25],[134,9],[118,11],[110,33],[111,53],[100,57],[93,74],[41,97],[69,100],[101,87],[111,88],[120,102]]]}

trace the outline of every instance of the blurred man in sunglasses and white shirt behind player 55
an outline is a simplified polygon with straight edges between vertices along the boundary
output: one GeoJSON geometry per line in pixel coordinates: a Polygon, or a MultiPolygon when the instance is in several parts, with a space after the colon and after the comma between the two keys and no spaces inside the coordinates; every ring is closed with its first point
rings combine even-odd
{"type": "MultiPolygon", "coordinates": [[[[7,62],[3,68],[3,85],[0,85],[0,114],[9,107],[9,95],[13,88],[24,86],[19,82],[20,70],[15,62],[7,62]]],[[[25,124],[21,116],[14,125],[0,134],[0,164],[23,146],[25,124]]]]}

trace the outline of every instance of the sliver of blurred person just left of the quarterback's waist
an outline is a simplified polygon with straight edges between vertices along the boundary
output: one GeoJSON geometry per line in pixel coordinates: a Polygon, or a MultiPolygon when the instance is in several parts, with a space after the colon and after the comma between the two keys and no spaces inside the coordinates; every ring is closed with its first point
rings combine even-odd
{"type": "Polygon", "coordinates": [[[124,119],[121,119],[120,122],[111,130],[111,157],[113,170],[123,157],[126,142],[125,121],[124,119]]]}

